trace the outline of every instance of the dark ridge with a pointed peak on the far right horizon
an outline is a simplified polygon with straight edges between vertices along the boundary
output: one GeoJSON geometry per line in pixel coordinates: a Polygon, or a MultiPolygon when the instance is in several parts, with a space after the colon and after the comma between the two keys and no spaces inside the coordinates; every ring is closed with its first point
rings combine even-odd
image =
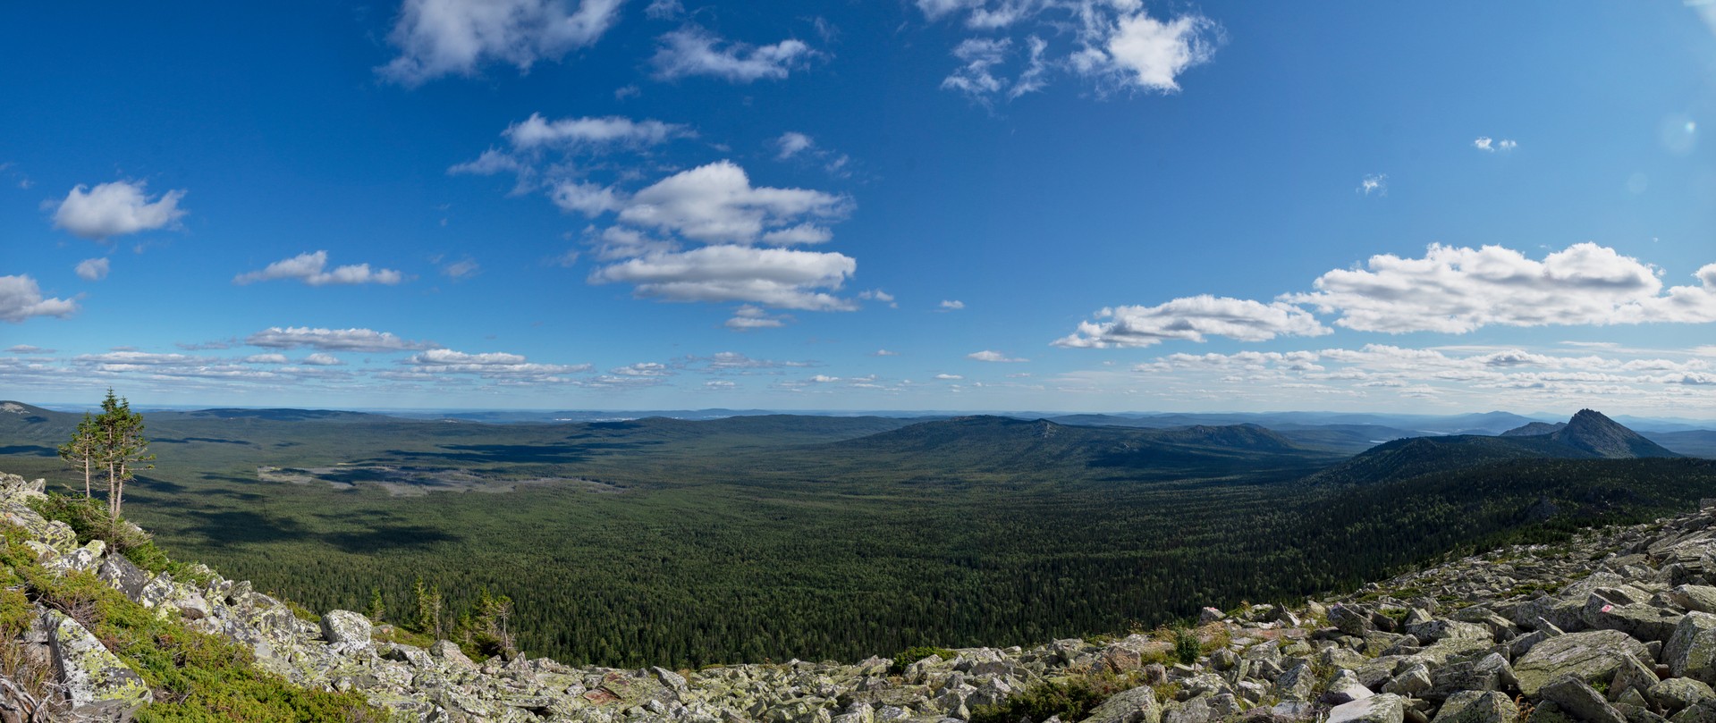
{"type": "Polygon", "coordinates": [[[1412,437],[1380,444],[1311,478],[1316,485],[1373,485],[1419,475],[1467,469],[1510,459],[1639,459],[1680,457],[1601,413],[1582,409],[1550,433],[1510,430],[1502,437],[1412,437]]]}

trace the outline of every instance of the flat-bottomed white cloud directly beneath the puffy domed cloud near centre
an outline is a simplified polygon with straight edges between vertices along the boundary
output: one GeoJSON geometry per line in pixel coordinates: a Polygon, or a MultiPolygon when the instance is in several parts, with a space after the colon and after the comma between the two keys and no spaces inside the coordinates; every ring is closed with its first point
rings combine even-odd
{"type": "Polygon", "coordinates": [[[592,272],[590,283],[630,283],[638,296],[668,302],[853,310],[853,302],[815,290],[839,290],[856,269],[858,262],[843,254],[714,245],[609,264],[592,272]]]}

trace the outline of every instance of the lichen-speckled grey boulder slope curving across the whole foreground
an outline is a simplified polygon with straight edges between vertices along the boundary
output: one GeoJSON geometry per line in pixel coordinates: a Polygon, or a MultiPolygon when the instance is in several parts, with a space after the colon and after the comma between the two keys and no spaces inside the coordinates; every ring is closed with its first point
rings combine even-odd
{"type": "MultiPolygon", "coordinates": [[[[1206,608],[1187,634],[970,648],[896,661],[764,663],[697,672],[468,660],[451,642],[376,639],[359,613],[300,620],[249,583],[149,576],[27,502],[0,475],[0,519],[48,574],[94,572],[154,615],[244,642],[311,689],[355,690],[420,721],[963,721],[1097,684],[1095,723],[1706,723],[1716,721],[1716,500],[1701,512],[1514,547],[1375,583],[1337,601],[1206,608]],[[1175,649],[1179,637],[1179,649],[1175,649]],[[1182,660],[1172,660],[1184,653],[1182,660]],[[1040,696],[1038,696],[1040,697],[1040,696]]],[[[156,699],[74,617],[33,608],[14,646],[53,661],[53,701],[0,677],[0,720],[124,720],[156,699]]],[[[1047,720],[1059,720],[1048,718],[1047,720]]],[[[1072,723],[1066,720],[1060,723],[1072,723]]],[[[1043,723],[1036,720],[1035,723],[1043,723]]]]}

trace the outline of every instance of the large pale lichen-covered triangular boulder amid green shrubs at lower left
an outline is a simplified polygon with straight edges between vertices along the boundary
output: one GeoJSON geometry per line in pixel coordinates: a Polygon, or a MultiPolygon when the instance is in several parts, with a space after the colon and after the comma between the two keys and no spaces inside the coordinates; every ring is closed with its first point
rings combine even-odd
{"type": "Polygon", "coordinates": [[[45,622],[60,687],[74,713],[129,720],[137,708],[154,701],[142,677],[77,620],[50,610],[45,622]]]}

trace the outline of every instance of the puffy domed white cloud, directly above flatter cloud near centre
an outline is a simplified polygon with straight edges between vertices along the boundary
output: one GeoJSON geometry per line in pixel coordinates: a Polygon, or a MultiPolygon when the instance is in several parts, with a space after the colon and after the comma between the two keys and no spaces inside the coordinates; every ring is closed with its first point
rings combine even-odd
{"type": "Polygon", "coordinates": [[[752,187],[733,161],[674,173],[633,194],[619,219],[700,242],[755,242],[803,218],[839,219],[851,199],[808,188],[752,187]]]}

